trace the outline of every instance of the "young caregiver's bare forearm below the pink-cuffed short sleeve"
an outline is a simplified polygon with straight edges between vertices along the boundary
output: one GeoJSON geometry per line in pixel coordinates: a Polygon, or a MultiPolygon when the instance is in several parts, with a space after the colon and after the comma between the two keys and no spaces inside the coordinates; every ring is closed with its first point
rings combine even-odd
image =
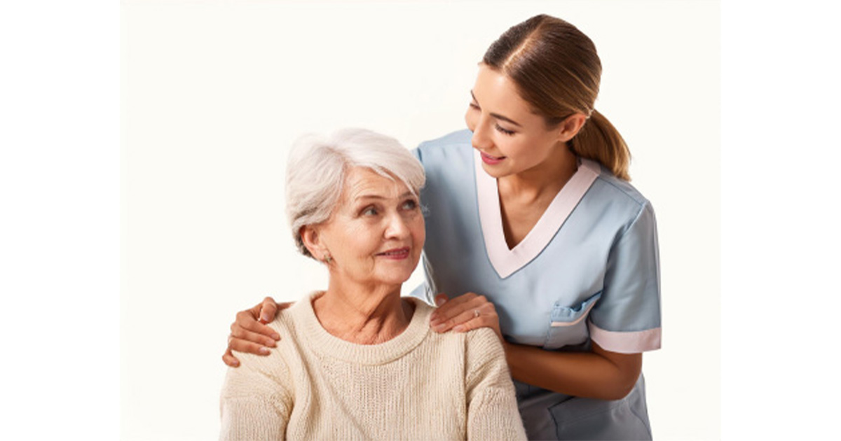
{"type": "Polygon", "coordinates": [[[598,351],[553,352],[505,343],[505,359],[517,381],[571,396],[618,400],[627,396],[642,369],[642,354],[616,362],[598,351]]]}

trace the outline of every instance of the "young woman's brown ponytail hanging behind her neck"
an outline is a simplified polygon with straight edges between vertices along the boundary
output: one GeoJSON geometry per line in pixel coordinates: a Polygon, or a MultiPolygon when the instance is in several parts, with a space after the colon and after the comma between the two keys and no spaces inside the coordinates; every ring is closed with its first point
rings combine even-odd
{"type": "Polygon", "coordinates": [[[569,148],[575,155],[606,166],[616,177],[631,181],[628,175],[631,151],[619,131],[597,110],[593,109],[590,119],[569,141],[569,148]]]}

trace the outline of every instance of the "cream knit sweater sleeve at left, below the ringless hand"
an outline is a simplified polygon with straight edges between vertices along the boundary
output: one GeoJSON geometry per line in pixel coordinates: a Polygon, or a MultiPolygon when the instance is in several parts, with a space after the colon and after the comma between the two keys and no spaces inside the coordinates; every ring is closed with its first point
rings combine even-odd
{"type": "Polygon", "coordinates": [[[220,440],[285,439],[293,395],[289,370],[278,349],[267,356],[235,352],[220,396],[220,440]]]}

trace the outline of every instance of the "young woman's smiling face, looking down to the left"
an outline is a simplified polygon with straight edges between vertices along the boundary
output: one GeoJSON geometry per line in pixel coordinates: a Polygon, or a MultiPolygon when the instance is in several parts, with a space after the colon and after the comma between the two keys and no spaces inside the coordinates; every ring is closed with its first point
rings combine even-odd
{"type": "Polygon", "coordinates": [[[464,120],[473,132],[473,148],[482,168],[500,178],[539,167],[563,144],[558,129],[547,129],[542,116],[520,97],[510,79],[487,66],[479,67],[464,120]]]}

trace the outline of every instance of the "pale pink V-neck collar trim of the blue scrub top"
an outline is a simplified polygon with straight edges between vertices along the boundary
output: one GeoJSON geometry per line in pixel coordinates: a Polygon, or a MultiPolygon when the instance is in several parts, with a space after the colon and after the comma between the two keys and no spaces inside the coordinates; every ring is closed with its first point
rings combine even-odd
{"type": "Polygon", "coordinates": [[[595,178],[599,177],[601,171],[599,163],[584,158],[579,160],[578,171],[575,171],[560,192],[555,195],[549,207],[532,227],[532,231],[529,231],[514,248],[509,249],[502,229],[500,192],[496,178],[482,169],[479,151],[476,150],[473,154],[479,220],[482,223],[484,246],[488,250],[490,264],[494,266],[494,270],[501,278],[505,279],[516,270],[520,270],[546,248],[569,217],[569,213],[573,212],[584,197],[584,193],[590,189],[595,178]]]}

